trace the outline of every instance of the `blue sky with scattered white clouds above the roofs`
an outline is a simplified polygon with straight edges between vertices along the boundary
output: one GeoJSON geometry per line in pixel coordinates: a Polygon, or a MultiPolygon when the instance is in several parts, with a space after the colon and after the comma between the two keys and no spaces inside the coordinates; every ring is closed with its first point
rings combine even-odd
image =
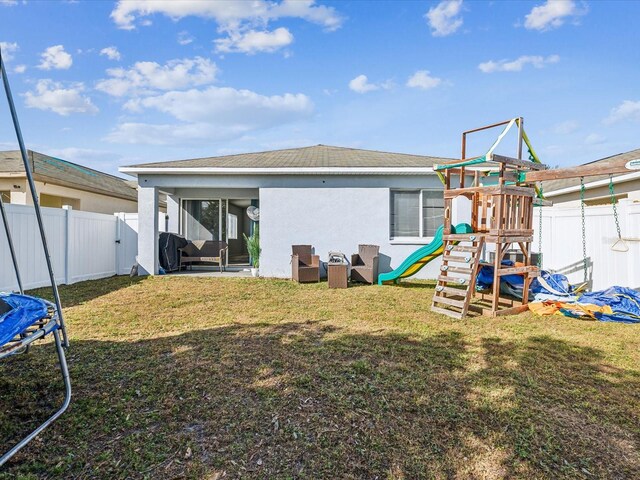
{"type": "Polygon", "coordinates": [[[0,18],[28,148],[111,173],[318,143],[457,157],[462,130],[518,115],[552,166],[640,147],[640,2],[0,0],[0,18]]]}

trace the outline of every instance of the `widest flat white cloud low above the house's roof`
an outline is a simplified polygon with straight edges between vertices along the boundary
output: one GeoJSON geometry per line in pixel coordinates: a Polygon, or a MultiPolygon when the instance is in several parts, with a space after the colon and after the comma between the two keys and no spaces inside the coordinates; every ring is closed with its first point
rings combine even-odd
{"type": "Polygon", "coordinates": [[[247,132],[307,118],[313,113],[313,103],[303,94],[265,96],[211,86],[133,99],[125,109],[136,113],[156,110],[183,123],[123,123],[108,135],[108,141],[162,145],[238,138],[247,132]]]}

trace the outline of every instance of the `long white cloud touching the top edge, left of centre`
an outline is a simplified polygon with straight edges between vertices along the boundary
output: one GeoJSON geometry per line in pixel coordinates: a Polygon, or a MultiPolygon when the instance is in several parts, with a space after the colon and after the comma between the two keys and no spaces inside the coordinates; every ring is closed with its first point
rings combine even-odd
{"type": "Polygon", "coordinates": [[[316,5],[313,0],[284,0],[280,3],[265,0],[120,0],[111,12],[111,18],[119,28],[131,30],[135,28],[137,18],[153,14],[162,14],[173,20],[188,16],[213,19],[223,30],[239,27],[243,22],[266,25],[271,20],[285,17],[301,18],[327,30],[336,30],[344,21],[333,7],[316,5]]]}

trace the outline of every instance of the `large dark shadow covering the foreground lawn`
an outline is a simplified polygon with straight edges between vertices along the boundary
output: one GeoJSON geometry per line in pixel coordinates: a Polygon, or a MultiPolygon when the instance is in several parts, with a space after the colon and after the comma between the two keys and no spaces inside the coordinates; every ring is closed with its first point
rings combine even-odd
{"type": "MultiPolygon", "coordinates": [[[[547,337],[482,350],[322,322],[74,342],[69,412],[0,478],[640,475],[637,374],[547,337]]],[[[5,445],[53,401],[52,353],[0,365],[5,445]]]]}

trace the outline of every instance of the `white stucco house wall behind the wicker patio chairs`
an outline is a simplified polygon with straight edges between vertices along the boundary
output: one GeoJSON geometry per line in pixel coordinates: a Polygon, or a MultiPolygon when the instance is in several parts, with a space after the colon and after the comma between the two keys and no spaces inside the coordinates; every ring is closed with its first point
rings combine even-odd
{"type": "MultiPolygon", "coordinates": [[[[350,259],[358,244],[379,245],[380,273],[391,271],[431,239],[390,240],[389,210],[389,188],[260,189],[260,275],[289,278],[296,244],[312,245],[321,261],[329,251],[350,259]]],[[[415,278],[435,278],[439,268],[434,261],[415,278]]]]}

